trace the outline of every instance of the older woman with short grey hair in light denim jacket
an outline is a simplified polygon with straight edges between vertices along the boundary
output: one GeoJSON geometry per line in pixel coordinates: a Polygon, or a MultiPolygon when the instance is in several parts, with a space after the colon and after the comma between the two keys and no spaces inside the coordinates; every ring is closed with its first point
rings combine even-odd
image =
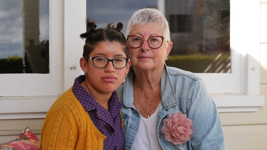
{"type": "Polygon", "coordinates": [[[169,25],[156,9],[141,9],[126,30],[131,68],[118,88],[125,149],[223,150],[215,103],[195,74],[168,67],[169,25]]]}

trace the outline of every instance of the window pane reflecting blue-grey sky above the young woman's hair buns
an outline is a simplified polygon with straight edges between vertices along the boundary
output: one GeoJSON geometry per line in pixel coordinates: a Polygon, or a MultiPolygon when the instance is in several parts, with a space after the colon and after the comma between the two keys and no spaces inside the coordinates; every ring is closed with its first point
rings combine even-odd
{"type": "Polygon", "coordinates": [[[107,27],[107,23],[122,22],[123,34],[130,17],[140,8],[157,8],[158,1],[155,0],[86,0],[86,17],[96,20],[97,28],[107,27]]]}

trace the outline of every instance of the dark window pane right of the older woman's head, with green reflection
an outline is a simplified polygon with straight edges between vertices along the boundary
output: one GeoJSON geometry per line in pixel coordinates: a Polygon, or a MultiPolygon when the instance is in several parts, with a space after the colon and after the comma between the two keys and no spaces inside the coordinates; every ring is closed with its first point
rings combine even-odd
{"type": "Polygon", "coordinates": [[[166,1],[173,48],[166,64],[196,73],[230,73],[229,0],[166,1]]]}

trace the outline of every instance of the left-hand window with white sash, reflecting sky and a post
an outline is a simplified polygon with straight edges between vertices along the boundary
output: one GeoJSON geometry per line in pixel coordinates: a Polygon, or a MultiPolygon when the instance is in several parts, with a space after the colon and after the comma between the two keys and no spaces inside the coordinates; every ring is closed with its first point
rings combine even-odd
{"type": "Polygon", "coordinates": [[[60,13],[48,14],[60,7],[59,4],[49,3],[48,0],[0,2],[1,7],[5,7],[1,9],[5,14],[1,18],[1,26],[4,26],[0,31],[4,35],[0,43],[1,58],[15,55],[22,60],[18,63],[20,67],[15,66],[20,72],[0,74],[0,96],[59,95],[60,59],[57,58],[60,58],[60,51],[55,49],[60,49],[60,34],[57,30],[52,32],[52,29],[60,28],[57,21],[60,13]],[[51,10],[49,5],[52,6],[51,10]]]}

